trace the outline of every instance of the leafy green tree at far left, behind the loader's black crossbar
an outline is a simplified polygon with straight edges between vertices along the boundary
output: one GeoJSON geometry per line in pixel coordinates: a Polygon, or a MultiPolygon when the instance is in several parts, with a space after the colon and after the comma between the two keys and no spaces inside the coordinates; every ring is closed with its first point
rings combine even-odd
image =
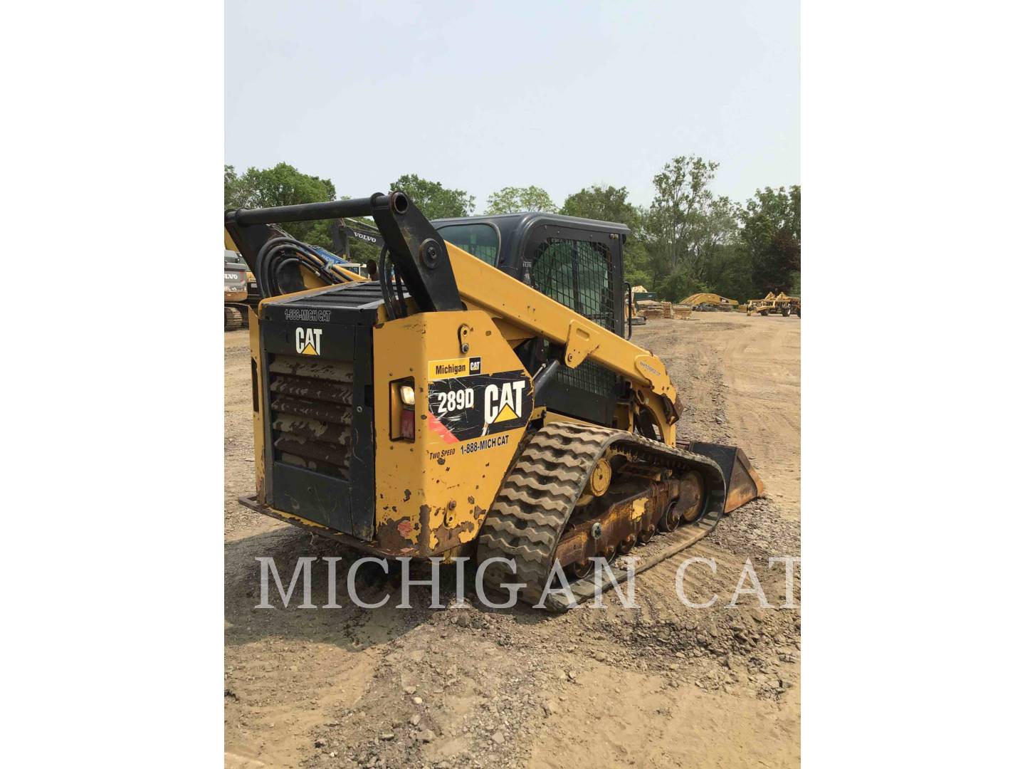
{"type": "MultiPolygon", "coordinates": [[[[300,203],[323,203],[336,198],[331,179],[301,173],[287,163],[273,168],[250,167],[239,175],[234,166],[224,166],[225,208],[266,208],[300,203]]],[[[295,221],[288,233],[316,245],[331,246],[327,221],[295,221]]]]}

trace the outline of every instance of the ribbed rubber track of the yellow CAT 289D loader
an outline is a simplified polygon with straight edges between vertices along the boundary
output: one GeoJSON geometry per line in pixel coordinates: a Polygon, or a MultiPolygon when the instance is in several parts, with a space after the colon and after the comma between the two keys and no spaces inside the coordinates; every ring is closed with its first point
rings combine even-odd
{"type": "MultiPolygon", "coordinates": [[[[521,600],[537,604],[548,581],[556,551],[584,493],[598,462],[610,451],[625,455],[632,462],[681,475],[688,471],[700,474],[704,483],[703,507],[696,520],[685,523],[671,534],[670,547],[656,557],[646,559],[634,573],[693,544],[715,528],[726,504],[726,481],[720,467],[701,454],[684,451],[663,443],[608,428],[575,422],[552,422],[534,433],[526,442],[512,470],[499,490],[484,522],[478,542],[477,560],[511,559],[515,569],[502,562],[489,565],[485,580],[492,588],[506,583],[526,583],[521,600]]],[[[626,576],[625,569],[612,569],[594,578],[570,583],[577,602],[587,600],[626,576]]],[[[544,607],[563,611],[571,600],[557,579],[555,592],[545,596],[544,607]]]]}

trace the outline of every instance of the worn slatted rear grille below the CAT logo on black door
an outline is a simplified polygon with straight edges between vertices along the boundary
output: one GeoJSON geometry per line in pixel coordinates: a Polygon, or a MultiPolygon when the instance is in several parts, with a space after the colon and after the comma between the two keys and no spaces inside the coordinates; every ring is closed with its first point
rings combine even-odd
{"type": "Polygon", "coordinates": [[[348,480],[353,454],[352,363],[276,355],[270,365],[276,458],[348,480]]]}

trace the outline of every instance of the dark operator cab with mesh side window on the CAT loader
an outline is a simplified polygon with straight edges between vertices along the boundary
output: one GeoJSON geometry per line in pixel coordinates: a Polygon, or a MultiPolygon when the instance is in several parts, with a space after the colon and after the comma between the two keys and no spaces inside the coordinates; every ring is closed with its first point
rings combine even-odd
{"type": "MultiPolygon", "coordinates": [[[[435,219],[449,243],[551,297],[614,333],[628,337],[624,318],[623,225],[543,211],[435,219]]],[[[517,351],[536,371],[562,358],[561,349],[532,339],[517,351]]],[[[561,366],[541,399],[552,411],[611,426],[623,380],[607,368],[584,361],[561,366]]]]}

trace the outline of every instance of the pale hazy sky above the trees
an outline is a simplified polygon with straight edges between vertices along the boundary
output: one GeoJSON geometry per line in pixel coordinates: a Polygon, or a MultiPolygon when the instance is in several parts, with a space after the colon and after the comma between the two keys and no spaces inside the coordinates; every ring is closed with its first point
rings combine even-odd
{"type": "Polygon", "coordinates": [[[557,204],[654,197],[671,158],[744,201],[801,184],[799,3],[227,0],[224,162],[289,163],[339,194],[403,173],[557,204]]]}

